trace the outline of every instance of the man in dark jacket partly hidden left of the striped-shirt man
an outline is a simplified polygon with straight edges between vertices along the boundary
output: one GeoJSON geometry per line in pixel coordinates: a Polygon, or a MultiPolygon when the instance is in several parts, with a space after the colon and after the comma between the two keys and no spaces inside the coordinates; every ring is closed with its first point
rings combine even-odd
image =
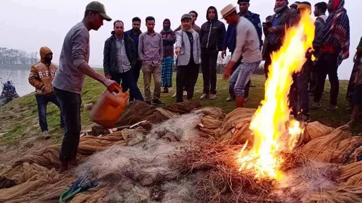
{"type": "MultiPolygon", "coordinates": [[[[125,32],[125,34],[131,36],[131,38],[133,39],[133,42],[136,46],[136,51],[137,51],[137,63],[135,66],[132,67],[132,73],[133,73],[133,78],[136,81],[136,84],[138,82],[138,79],[140,77],[140,71],[141,71],[141,60],[139,59],[138,56],[138,41],[139,41],[139,37],[142,34],[141,30],[141,19],[139,17],[134,17],[132,19],[132,29],[128,30],[125,32]]],[[[132,93],[129,95],[129,102],[132,103],[134,101],[134,97],[132,95],[132,93]]]]}

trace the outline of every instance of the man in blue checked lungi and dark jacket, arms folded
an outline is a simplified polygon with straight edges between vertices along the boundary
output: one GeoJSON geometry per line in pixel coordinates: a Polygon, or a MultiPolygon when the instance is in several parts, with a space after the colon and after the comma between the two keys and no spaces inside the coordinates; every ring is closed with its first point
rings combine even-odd
{"type": "Polygon", "coordinates": [[[171,30],[170,19],[164,20],[164,29],[161,31],[164,59],[162,60],[162,72],[161,72],[161,87],[164,88],[163,93],[169,93],[169,88],[172,87],[172,73],[174,67],[174,44],[176,42],[176,36],[174,31],[171,30]]]}

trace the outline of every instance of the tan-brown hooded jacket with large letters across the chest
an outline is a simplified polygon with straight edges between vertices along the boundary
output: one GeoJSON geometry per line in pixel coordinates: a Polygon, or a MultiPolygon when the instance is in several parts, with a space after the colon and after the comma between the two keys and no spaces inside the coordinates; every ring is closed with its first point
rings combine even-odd
{"type": "Polygon", "coordinates": [[[54,94],[52,81],[58,68],[54,63],[47,63],[45,56],[52,51],[48,47],[40,48],[40,61],[31,66],[29,83],[35,87],[37,95],[54,94]]]}

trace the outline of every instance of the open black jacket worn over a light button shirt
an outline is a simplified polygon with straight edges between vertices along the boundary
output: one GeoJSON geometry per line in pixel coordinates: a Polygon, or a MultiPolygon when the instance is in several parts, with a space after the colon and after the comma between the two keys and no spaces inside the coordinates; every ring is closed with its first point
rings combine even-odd
{"type": "MultiPolygon", "coordinates": [[[[118,62],[117,62],[117,47],[116,47],[116,37],[114,31],[111,32],[110,36],[104,43],[103,50],[103,69],[104,74],[109,75],[110,72],[118,72],[118,62]]],[[[137,51],[136,46],[132,38],[123,33],[124,47],[126,49],[126,54],[131,67],[133,68],[137,64],[137,51]]]]}

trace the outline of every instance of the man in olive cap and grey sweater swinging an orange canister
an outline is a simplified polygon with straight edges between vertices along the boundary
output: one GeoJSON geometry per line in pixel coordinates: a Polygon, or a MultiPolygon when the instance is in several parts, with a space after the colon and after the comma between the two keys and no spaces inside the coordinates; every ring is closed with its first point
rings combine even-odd
{"type": "MultiPolygon", "coordinates": [[[[81,93],[86,75],[101,82],[110,91],[118,84],[97,73],[88,64],[90,53],[90,30],[98,30],[103,20],[112,20],[104,5],[92,1],[86,6],[81,22],[73,26],[65,36],[60,53],[59,69],[52,82],[57,94],[65,122],[65,134],[59,154],[60,171],[68,169],[69,162],[76,163],[77,149],[81,134],[81,93]]],[[[121,93],[122,94],[122,93],[121,93]]],[[[126,95],[122,94],[125,98],[126,95]]]]}

